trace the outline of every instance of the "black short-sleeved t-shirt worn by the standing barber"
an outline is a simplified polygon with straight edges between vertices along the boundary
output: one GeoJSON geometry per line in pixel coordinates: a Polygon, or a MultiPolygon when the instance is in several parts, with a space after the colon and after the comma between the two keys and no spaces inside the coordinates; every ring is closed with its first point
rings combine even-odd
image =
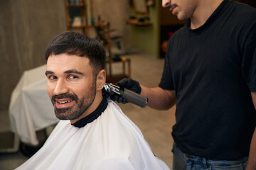
{"type": "Polygon", "coordinates": [[[174,142],[208,159],[246,157],[256,124],[256,10],[224,0],[203,26],[189,25],[169,40],[159,84],[176,91],[174,142]]]}

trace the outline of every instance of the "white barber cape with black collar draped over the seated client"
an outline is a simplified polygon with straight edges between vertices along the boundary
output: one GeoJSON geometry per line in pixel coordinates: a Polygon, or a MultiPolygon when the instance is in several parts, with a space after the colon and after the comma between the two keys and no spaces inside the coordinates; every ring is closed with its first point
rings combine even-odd
{"type": "Polygon", "coordinates": [[[169,169],[113,101],[103,98],[96,111],[78,122],[60,120],[45,145],[17,169],[169,169]]]}

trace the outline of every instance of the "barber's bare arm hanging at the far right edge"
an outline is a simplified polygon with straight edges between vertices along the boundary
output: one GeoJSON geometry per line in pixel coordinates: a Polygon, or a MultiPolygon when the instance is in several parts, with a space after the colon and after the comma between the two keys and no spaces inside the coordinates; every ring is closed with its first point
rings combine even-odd
{"type": "MultiPolygon", "coordinates": [[[[256,92],[252,92],[252,102],[256,109],[256,92]]],[[[250,145],[250,154],[245,170],[255,170],[256,169],[256,128],[252,136],[252,141],[250,145]]]]}

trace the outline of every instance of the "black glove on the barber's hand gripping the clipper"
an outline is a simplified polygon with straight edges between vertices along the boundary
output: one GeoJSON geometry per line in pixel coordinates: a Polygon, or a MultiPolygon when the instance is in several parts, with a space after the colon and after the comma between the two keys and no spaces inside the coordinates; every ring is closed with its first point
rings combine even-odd
{"type": "MultiPolygon", "coordinates": [[[[139,86],[139,82],[133,79],[122,79],[117,82],[117,85],[122,88],[129,89],[130,91],[134,91],[137,94],[140,94],[142,92],[142,88],[139,86]]],[[[128,103],[127,99],[122,98],[119,95],[112,95],[110,96],[110,98],[112,99],[112,101],[117,101],[118,103],[128,103]]]]}

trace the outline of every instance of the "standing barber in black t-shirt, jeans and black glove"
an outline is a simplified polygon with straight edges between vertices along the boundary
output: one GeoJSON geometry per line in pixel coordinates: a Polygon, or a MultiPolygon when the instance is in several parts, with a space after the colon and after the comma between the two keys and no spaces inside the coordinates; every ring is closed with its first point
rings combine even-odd
{"type": "Polygon", "coordinates": [[[230,0],[162,6],[187,21],[169,40],[159,86],[117,84],[149,98],[151,108],[176,103],[174,170],[256,169],[256,9],[230,0]]]}

